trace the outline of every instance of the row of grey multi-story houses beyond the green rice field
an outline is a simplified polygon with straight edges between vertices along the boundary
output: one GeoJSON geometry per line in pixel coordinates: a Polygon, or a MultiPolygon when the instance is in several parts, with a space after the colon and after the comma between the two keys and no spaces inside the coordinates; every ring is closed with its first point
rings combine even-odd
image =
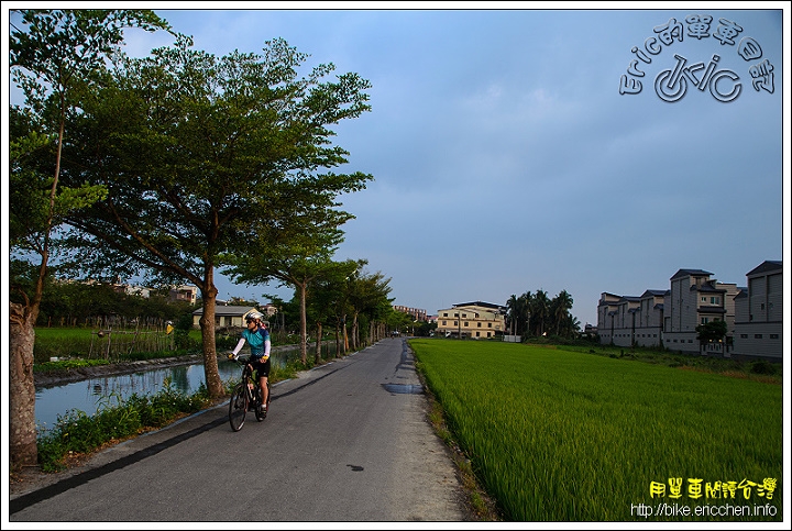
{"type": "Polygon", "coordinates": [[[781,359],[782,263],[767,261],[747,274],[748,287],[719,283],[703,269],[680,269],[667,290],[641,296],[603,292],[597,305],[602,344],[659,346],[675,352],[781,359]],[[725,321],[722,343],[700,345],[696,327],[725,321]]]}

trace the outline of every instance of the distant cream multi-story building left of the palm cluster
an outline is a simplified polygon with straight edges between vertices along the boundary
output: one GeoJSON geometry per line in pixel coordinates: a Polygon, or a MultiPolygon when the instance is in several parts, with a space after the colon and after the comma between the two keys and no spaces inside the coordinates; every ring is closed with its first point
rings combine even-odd
{"type": "Polygon", "coordinates": [[[446,338],[487,339],[503,335],[506,308],[475,301],[438,311],[437,334],[446,338]]]}

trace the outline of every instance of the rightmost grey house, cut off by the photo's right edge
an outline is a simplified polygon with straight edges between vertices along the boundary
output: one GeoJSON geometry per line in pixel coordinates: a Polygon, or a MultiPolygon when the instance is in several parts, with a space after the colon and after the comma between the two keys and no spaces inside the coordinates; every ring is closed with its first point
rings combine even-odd
{"type": "Polygon", "coordinates": [[[748,286],[735,298],[733,355],[782,358],[783,264],[766,261],[747,275],[748,286]]]}

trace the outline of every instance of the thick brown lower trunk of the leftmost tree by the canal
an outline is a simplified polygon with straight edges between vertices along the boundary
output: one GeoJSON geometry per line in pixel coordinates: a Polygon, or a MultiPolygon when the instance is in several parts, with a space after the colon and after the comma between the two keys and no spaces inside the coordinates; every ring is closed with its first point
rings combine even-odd
{"type": "Polygon", "coordinates": [[[9,321],[9,455],[12,468],[18,469],[38,462],[33,379],[35,318],[23,305],[10,302],[9,321]]]}

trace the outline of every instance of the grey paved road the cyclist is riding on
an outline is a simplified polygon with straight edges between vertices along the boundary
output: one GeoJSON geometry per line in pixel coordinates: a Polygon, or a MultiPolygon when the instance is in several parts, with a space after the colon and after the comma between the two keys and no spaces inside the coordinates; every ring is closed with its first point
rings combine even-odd
{"type": "Polygon", "coordinates": [[[12,497],[23,521],[465,521],[448,449],[402,339],[273,387],[264,422],[228,407],[98,454],[12,497]]]}

